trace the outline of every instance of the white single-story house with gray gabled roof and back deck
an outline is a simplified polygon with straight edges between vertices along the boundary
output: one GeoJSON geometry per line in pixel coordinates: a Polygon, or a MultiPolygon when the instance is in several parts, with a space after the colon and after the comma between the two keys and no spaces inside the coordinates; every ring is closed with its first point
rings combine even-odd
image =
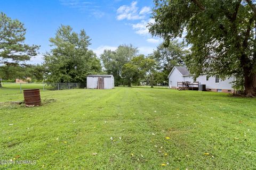
{"type": "MultiPolygon", "coordinates": [[[[194,82],[193,75],[191,75],[185,66],[174,66],[169,78],[169,88],[178,88],[178,82],[194,82]]],[[[209,77],[207,75],[199,76],[196,81],[199,84],[205,84],[207,91],[217,91],[217,92],[234,92],[233,81],[234,77],[226,80],[221,80],[218,76],[209,77]]]]}

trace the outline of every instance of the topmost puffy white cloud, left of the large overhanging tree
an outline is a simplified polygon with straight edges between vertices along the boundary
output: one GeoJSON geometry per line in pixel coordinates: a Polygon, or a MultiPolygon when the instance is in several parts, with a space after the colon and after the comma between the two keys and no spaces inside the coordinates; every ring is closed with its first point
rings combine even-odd
{"type": "Polygon", "coordinates": [[[117,9],[117,20],[141,20],[145,18],[145,14],[149,13],[150,7],[144,6],[138,12],[137,1],[133,1],[130,6],[123,5],[117,9]]]}

